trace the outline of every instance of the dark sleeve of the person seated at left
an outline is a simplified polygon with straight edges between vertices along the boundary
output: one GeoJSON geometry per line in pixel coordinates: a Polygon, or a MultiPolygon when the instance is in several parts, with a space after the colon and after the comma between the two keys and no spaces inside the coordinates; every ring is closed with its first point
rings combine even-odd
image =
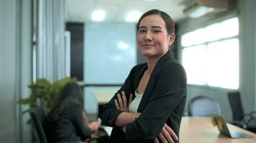
{"type": "Polygon", "coordinates": [[[83,124],[83,110],[81,109],[80,105],[71,104],[70,112],[72,112],[70,115],[72,116],[74,127],[76,128],[76,131],[81,139],[85,140],[90,138],[93,132],[90,128],[83,124]]]}

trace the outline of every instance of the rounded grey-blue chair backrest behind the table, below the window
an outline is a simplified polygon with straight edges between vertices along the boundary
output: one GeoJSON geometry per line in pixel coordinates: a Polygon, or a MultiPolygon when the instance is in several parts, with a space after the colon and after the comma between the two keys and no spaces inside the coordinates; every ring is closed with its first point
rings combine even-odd
{"type": "Polygon", "coordinates": [[[193,97],[188,103],[188,115],[193,117],[211,117],[213,114],[221,115],[221,107],[210,97],[193,97]]]}

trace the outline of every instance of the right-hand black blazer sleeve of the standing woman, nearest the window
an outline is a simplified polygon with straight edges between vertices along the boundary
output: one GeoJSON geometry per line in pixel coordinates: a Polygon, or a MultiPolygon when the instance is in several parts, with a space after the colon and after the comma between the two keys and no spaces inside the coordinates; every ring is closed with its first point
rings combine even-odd
{"type": "MultiPolygon", "coordinates": [[[[186,96],[186,73],[180,64],[163,66],[154,80],[152,94],[145,109],[140,117],[127,126],[127,142],[155,139],[173,110],[180,107],[180,100],[186,96]]],[[[181,107],[185,107],[185,102],[181,104],[184,104],[181,107]]]]}

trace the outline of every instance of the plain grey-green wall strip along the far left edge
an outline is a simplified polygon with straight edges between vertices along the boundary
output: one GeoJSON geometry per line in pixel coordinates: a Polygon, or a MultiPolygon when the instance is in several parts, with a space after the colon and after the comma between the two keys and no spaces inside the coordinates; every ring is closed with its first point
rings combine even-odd
{"type": "Polygon", "coordinates": [[[17,142],[16,122],[16,41],[17,1],[0,1],[0,140],[17,142]]]}

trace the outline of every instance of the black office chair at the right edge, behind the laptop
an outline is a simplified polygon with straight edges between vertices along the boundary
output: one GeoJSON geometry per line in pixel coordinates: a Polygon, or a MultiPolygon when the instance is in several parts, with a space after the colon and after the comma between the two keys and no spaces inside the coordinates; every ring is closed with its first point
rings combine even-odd
{"type": "Polygon", "coordinates": [[[228,92],[229,104],[232,109],[232,124],[256,133],[256,111],[244,114],[242,100],[238,91],[228,92]]]}

